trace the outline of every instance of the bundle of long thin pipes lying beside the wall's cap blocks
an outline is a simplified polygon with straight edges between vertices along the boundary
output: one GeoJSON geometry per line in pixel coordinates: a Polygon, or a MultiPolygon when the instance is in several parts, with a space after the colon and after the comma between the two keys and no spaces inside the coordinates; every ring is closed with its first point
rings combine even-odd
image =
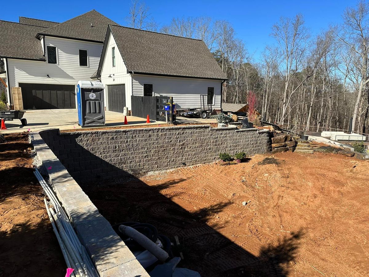
{"type": "Polygon", "coordinates": [[[68,267],[74,269],[70,276],[99,277],[92,260],[87,254],[85,246],[83,246],[78,239],[72,223],[63,210],[58,198],[54,194],[54,191],[52,191],[37,169],[35,170],[34,174],[41,187],[44,189],[45,194],[50,199],[51,204],[54,206],[54,208],[49,207],[46,202],[46,198],[44,198],[46,211],[49,215],[52,229],[54,230],[56,238],[58,239],[65,262],[68,267]]]}

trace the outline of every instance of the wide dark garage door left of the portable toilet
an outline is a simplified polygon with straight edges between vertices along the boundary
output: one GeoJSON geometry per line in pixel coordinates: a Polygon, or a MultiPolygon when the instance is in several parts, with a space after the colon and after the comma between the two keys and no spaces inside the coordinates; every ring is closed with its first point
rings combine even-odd
{"type": "Polygon", "coordinates": [[[20,83],[23,109],[73,109],[76,108],[73,85],[20,83]]]}

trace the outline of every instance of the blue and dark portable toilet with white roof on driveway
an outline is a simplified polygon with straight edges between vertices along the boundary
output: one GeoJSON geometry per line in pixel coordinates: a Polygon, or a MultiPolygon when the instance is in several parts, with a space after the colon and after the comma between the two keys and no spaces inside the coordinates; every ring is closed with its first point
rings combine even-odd
{"type": "Polygon", "coordinates": [[[104,85],[101,82],[78,81],[76,90],[79,125],[104,126],[104,85]]]}

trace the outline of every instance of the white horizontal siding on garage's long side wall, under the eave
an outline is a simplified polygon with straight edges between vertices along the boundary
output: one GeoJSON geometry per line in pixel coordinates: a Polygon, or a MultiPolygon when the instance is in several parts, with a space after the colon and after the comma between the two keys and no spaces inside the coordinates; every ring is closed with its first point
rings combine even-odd
{"type": "Polygon", "coordinates": [[[207,88],[214,87],[215,102],[213,108],[220,109],[221,80],[133,74],[133,95],[144,95],[144,83],[153,84],[152,88],[156,96],[173,96],[177,108],[200,107],[200,95],[207,95],[207,88]]]}

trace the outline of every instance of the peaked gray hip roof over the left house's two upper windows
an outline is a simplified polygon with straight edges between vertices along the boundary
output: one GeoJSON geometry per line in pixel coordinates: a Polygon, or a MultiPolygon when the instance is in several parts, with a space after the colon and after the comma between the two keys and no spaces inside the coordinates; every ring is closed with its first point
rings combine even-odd
{"type": "Polygon", "coordinates": [[[117,23],[99,12],[92,10],[64,21],[39,34],[104,42],[108,24],[117,23]],[[91,24],[93,27],[91,27],[91,24]]]}

